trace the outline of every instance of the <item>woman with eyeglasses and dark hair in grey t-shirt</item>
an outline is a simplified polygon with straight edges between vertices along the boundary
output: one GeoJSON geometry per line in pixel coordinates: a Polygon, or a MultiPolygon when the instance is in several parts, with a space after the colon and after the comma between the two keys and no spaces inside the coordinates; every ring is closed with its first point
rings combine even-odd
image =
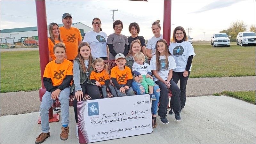
{"type": "Polygon", "coordinates": [[[125,35],[121,34],[124,25],[121,20],[116,20],[113,23],[115,33],[108,36],[108,49],[109,49],[109,60],[114,60],[116,54],[122,53],[127,56],[129,51],[128,39],[125,35]]]}

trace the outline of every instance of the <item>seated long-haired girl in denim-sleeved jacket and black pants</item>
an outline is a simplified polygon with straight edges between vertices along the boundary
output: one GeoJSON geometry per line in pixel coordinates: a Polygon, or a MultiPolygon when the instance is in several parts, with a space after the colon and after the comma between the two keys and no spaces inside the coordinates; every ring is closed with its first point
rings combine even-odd
{"type": "Polygon", "coordinates": [[[78,54],[73,63],[73,84],[71,92],[74,95],[74,111],[76,118],[76,137],[78,139],[77,125],[77,101],[84,99],[85,93],[90,95],[92,99],[100,99],[99,88],[91,82],[90,75],[93,70],[92,63],[94,58],[91,55],[91,48],[87,42],[82,42],[78,47],[78,54]]]}

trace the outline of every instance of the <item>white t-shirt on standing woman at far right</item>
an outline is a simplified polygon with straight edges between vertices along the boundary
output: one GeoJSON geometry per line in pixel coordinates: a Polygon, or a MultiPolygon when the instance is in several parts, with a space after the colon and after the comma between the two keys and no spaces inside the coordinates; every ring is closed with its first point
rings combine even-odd
{"type": "MultiPolygon", "coordinates": [[[[177,68],[173,69],[173,72],[184,72],[188,63],[189,56],[195,56],[195,51],[192,44],[188,41],[181,43],[171,43],[169,46],[169,51],[172,57],[175,59],[177,68]]],[[[189,68],[191,70],[192,64],[189,68]]]]}

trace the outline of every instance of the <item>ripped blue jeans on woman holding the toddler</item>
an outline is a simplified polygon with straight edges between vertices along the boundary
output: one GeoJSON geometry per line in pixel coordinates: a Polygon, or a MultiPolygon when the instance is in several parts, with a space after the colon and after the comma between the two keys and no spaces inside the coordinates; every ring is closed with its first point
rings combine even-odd
{"type": "MultiPolygon", "coordinates": [[[[155,86],[154,86],[154,91],[153,93],[155,94],[156,96],[156,101],[152,100],[152,106],[151,106],[151,113],[152,115],[156,115],[156,112],[157,112],[157,105],[158,105],[158,102],[159,102],[159,97],[160,97],[160,88],[158,87],[158,85],[156,83],[154,83],[155,86]]],[[[132,81],[132,89],[137,92],[137,95],[143,95],[143,94],[146,94],[146,90],[145,88],[138,82],[136,81],[132,81]]]]}

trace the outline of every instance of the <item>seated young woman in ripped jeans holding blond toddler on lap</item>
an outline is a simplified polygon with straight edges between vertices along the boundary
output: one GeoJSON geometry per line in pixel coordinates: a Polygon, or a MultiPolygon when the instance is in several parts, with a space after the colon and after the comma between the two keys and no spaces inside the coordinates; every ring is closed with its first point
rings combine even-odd
{"type": "MultiPolygon", "coordinates": [[[[126,59],[125,66],[128,66],[131,69],[131,71],[132,71],[132,65],[135,62],[134,56],[136,53],[142,52],[141,48],[142,47],[140,44],[140,40],[132,41],[131,48],[128,52],[128,55],[125,57],[125,59],[126,59]]],[[[145,63],[148,63],[147,57],[145,57],[145,63]]],[[[133,75],[132,89],[137,92],[137,95],[146,94],[145,88],[142,86],[142,84],[140,84],[143,81],[143,78],[136,77],[136,75],[134,73],[132,73],[132,75],[133,75]]],[[[156,83],[153,88],[153,93],[156,96],[156,100],[152,100],[152,106],[151,106],[152,125],[153,125],[153,128],[156,128],[156,111],[157,111],[157,104],[158,104],[159,96],[160,96],[160,89],[156,83]]]]}

